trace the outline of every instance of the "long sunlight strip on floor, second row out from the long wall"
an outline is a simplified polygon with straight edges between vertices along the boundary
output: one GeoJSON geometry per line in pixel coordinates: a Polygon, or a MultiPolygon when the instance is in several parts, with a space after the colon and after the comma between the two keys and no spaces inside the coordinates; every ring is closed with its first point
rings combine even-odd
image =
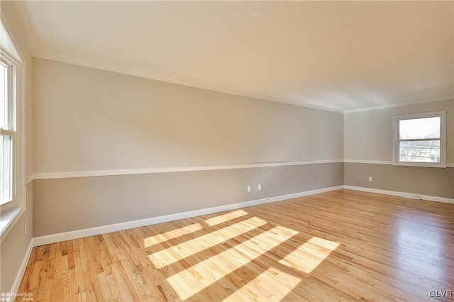
{"type": "Polygon", "coordinates": [[[182,242],[179,245],[172,245],[165,250],[153,252],[148,258],[155,264],[157,269],[160,269],[265,224],[267,222],[260,218],[249,218],[240,223],[235,223],[226,228],[221,228],[212,233],[182,242]]]}

